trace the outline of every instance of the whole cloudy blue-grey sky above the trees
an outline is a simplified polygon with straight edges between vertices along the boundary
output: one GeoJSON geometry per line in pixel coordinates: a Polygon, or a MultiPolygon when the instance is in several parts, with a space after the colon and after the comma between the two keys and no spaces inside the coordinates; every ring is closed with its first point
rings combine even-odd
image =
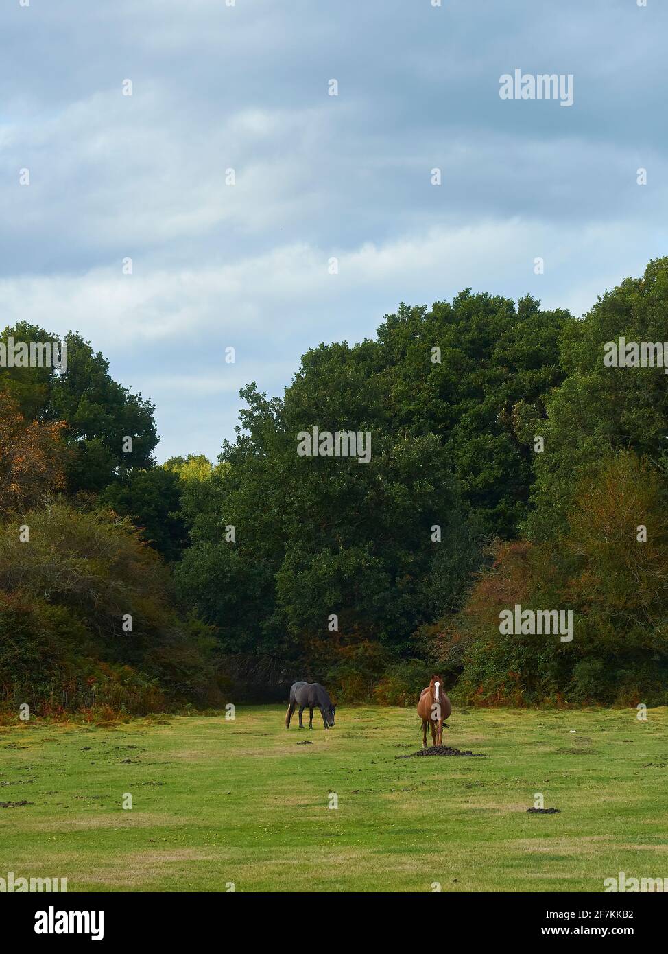
{"type": "Polygon", "coordinates": [[[3,0],[0,323],[83,334],[164,461],[400,301],[585,313],[668,253],[668,3],[638,2],[3,0]],[[501,98],[516,70],[573,104],[501,98]]]}

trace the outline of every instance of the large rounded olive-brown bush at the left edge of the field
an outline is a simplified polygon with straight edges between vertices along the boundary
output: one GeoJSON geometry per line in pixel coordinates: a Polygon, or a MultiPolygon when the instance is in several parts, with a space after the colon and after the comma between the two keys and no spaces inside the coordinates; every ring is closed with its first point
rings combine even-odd
{"type": "Polygon", "coordinates": [[[129,712],[220,701],[211,628],[179,617],[128,521],[55,504],[22,522],[24,543],[13,521],[0,528],[1,699],[129,712]]]}

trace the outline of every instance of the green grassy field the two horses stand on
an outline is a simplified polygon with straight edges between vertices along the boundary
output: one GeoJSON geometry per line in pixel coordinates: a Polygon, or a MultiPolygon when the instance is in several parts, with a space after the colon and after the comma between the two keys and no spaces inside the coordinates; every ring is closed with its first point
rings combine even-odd
{"type": "Polygon", "coordinates": [[[70,891],[424,892],[668,876],[668,709],[639,722],[455,708],[444,744],[486,758],[396,758],[419,747],[413,710],[342,708],[330,732],[287,732],[283,716],[0,729],[0,800],[32,802],[0,808],[0,876],[67,877],[70,891]],[[560,813],[527,814],[536,792],[560,813]]]}

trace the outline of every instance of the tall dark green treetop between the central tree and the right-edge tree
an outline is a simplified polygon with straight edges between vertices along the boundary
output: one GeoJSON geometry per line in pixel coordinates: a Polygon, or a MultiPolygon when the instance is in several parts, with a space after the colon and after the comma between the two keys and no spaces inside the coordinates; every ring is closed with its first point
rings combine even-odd
{"type": "Polygon", "coordinates": [[[531,297],[516,305],[466,289],[431,311],[402,305],[378,329],[397,423],[439,436],[464,502],[491,535],[515,537],[527,516],[534,454],[517,433],[516,407],[544,416],[564,377],[558,338],[569,319],[531,297]]]}

